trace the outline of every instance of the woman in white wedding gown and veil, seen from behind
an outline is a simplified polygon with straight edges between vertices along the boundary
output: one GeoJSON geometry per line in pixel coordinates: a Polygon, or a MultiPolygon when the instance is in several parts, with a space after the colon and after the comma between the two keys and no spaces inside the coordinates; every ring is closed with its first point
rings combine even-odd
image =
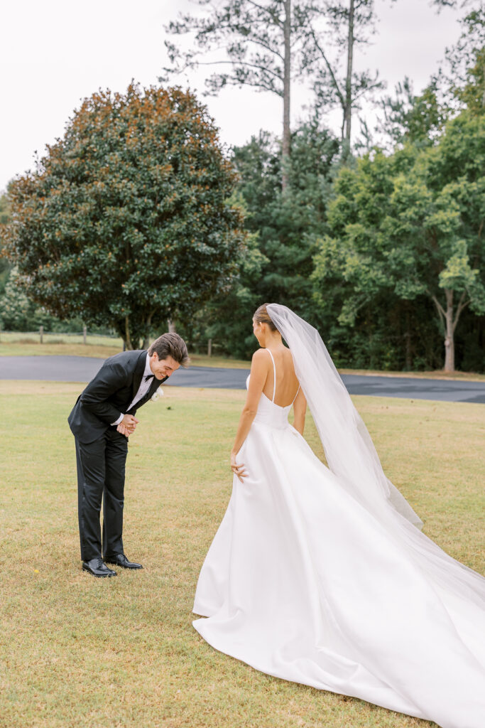
{"type": "Polygon", "coordinates": [[[233,494],[194,627],[269,675],[484,728],[485,579],[422,534],[318,332],[278,304],[253,330],[233,494]],[[302,437],[307,401],[329,467],[302,437]]]}

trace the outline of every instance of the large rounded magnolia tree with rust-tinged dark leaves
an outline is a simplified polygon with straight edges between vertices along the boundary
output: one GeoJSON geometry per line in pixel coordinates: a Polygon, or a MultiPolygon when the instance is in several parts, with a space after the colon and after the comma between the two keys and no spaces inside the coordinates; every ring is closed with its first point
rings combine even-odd
{"type": "Polygon", "coordinates": [[[4,251],[29,298],[136,348],[231,285],[244,247],[235,182],[191,92],[98,92],[10,183],[4,251]]]}

